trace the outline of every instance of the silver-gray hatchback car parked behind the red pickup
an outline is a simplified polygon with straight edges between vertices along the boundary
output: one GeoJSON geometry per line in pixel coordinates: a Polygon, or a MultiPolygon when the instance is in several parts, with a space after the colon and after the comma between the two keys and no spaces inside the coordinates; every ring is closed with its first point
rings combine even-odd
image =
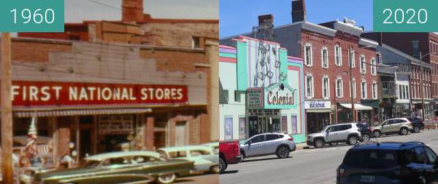
{"type": "Polygon", "coordinates": [[[261,133],[240,144],[242,159],[263,155],[276,155],[283,159],[295,149],[294,138],[286,133],[261,133]]]}

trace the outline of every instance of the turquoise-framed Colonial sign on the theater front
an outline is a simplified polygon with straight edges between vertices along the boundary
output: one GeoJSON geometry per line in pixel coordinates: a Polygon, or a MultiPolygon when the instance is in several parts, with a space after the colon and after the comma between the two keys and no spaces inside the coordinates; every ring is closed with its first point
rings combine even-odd
{"type": "Polygon", "coordinates": [[[294,109],[296,108],[296,90],[283,84],[274,84],[265,88],[265,109],[294,109]]]}

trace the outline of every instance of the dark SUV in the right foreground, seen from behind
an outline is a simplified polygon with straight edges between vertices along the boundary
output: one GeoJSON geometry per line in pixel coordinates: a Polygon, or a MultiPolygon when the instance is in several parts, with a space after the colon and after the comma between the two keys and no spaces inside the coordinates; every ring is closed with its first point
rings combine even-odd
{"type": "Polygon", "coordinates": [[[368,142],[350,148],[336,183],[435,183],[437,154],[422,142],[368,142]]]}

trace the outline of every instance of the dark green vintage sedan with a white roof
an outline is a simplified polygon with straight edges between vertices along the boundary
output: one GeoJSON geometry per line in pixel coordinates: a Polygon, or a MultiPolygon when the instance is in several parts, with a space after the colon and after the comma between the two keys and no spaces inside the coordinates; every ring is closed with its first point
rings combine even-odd
{"type": "Polygon", "coordinates": [[[37,172],[34,183],[172,183],[194,171],[193,161],[168,159],[151,151],[103,153],[78,168],[37,172]]]}

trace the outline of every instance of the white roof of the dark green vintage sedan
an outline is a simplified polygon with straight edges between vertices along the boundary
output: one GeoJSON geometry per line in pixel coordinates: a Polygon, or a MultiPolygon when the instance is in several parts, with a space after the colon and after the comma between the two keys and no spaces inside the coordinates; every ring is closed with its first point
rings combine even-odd
{"type": "Polygon", "coordinates": [[[102,161],[104,159],[110,159],[110,158],[116,158],[116,157],[130,157],[130,156],[149,156],[149,157],[159,157],[159,153],[148,151],[148,150],[136,150],[136,151],[118,151],[118,152],[111,152],[111,153],[102,153],[99,155],[92,155],[90,157],[86,157],[84,159],[86,160],[95,160],[95,161],[102,161]]]}

